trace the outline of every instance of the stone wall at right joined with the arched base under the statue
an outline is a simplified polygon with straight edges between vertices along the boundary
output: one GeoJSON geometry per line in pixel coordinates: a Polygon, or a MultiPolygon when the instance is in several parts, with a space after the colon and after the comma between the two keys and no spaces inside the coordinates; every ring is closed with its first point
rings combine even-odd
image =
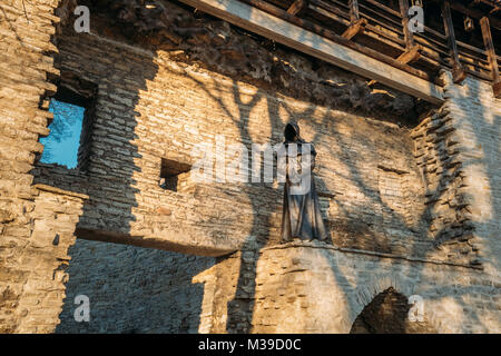
{"type": "MultiPolygon", "coordinates": [[[[199,277],[207,290],[219,291],[206,297],[205,314],[212,316],[205,329],[348,333],[362,310],[392,287],[424,300],[423,325],[406,323],[406,332],[499,333],[500,101],[489,83],[468,78],[456,86],[449,73],[444,81],[448,101],[411,134],[425,194],[406,221],[415,212],[430,219],[422,231],[431,245],[414,245],[422,257],[338,243],[242,251],[199,277]]],[[[392,172],[383,186],[405,176],[383,170],[392,172]]]]}

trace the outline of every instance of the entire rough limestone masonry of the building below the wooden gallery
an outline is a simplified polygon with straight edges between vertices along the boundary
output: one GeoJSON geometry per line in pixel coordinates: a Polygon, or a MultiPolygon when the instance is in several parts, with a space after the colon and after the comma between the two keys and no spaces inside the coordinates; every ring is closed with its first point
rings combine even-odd
{"type": "Polygon", "coordinates": [[[86,2],[91,33],[73,1],[0,4],[1,333],[379,330],[414,295],[424,320],[404,332],[501,332],[489,83],[444,71],[433,107],[175,1],[132,2],[86,2]],[[60,88],[90,102],[77,169],[38,161],[60,88]],[[291,119],[320,154],[330,244],[279,244],[277,182],[159,187],[197,145],[276,144],[291,119]]]}

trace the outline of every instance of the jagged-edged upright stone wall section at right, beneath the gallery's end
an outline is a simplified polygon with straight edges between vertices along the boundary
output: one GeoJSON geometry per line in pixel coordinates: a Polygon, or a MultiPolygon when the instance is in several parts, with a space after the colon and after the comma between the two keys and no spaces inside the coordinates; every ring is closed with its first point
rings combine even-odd
{"type": "Polygon", "coordinates": [[[436,258],[499,271],[501,103],[489,83],[444,73],[446,102],[411,136],[436,258]],[[498,152],[498,154],[497,154],[498,152]],[[440,257],[442,256],[442,257],[440,257]]]}

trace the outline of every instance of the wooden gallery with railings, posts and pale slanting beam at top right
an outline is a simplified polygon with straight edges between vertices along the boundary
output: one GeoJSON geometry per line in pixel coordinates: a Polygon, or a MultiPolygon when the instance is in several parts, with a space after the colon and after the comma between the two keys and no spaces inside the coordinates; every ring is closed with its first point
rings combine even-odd
{"type": "Polygon", "coordinates": [[[466,76],[491,81],[501,97],[500,0],[180,1],[428,101],[442,99],[441,69],[458,83],[466,76]],[[414,6],[423,10],[422,32],[409,27],[414,6]]]}

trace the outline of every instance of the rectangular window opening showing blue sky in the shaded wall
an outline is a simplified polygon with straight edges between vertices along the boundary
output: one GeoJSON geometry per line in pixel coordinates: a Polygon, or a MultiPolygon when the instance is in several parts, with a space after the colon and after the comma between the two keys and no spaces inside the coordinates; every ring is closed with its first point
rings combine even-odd
{"type": "Polygon", "coordinates": [[[66,75],[50,99],[49,111],[53,120],[50,134],[40,138],[42,164],[56,164],[68,169],[85,170],[90,150],[92,113],[97,86],[66,75]]]}

